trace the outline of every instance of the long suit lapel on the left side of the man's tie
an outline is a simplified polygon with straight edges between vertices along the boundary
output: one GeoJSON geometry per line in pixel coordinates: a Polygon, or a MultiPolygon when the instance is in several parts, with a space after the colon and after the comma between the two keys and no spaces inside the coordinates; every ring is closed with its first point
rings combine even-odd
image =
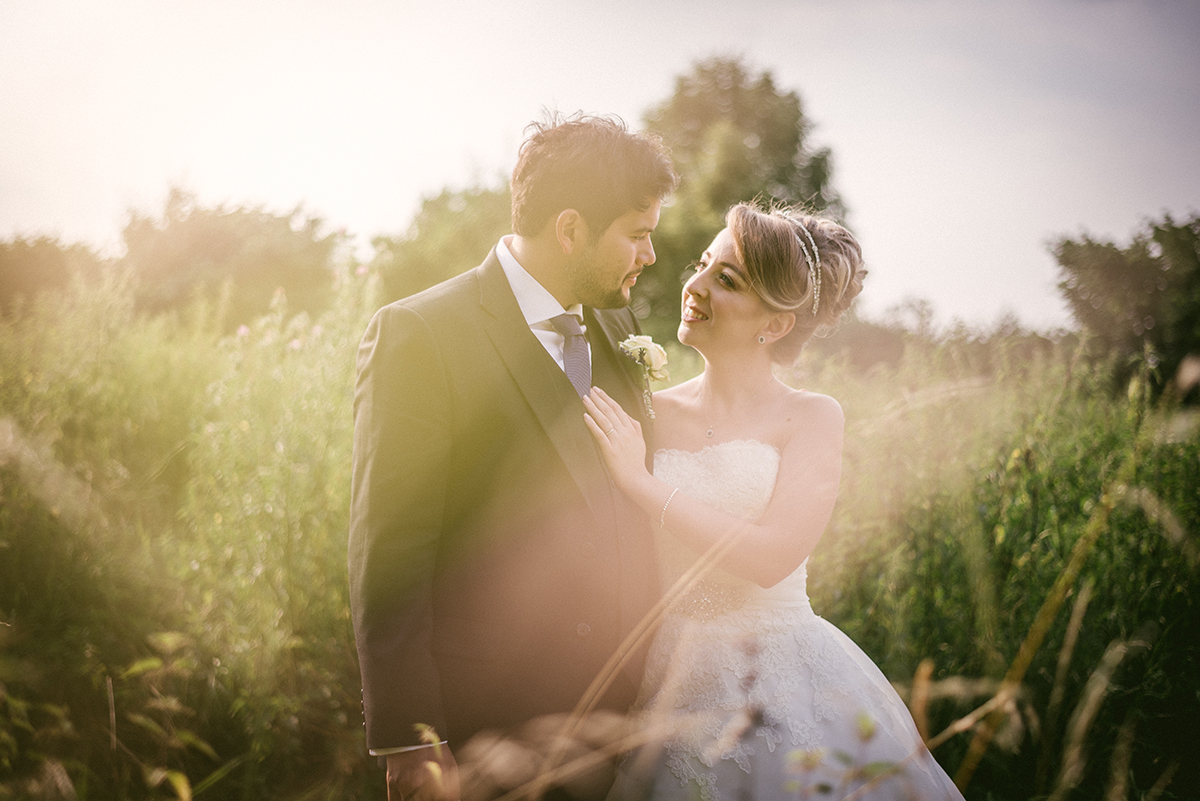
{"type": "Polygon", "coordinates": [[[613,526],[616,520],[608,476],[583,424],[580,396],[529,331],[494,252],[479,269],[479,285],[480,305],[490,314],[485,325],[487,336],[500,360],[550,436],[592,513],[605,528],[613,526]]]}

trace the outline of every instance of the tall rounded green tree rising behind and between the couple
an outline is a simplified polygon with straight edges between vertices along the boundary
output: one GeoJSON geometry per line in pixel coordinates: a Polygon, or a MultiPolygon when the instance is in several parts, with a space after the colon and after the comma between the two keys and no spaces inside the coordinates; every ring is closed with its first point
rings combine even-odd
{"type": "Polygon", "coordinates": [[[656,337],[674,336],[684,267],[734,203],[762,198],[844,212],[829,150],[810,145],[800,96],[778,88],[769,71],[755,73],[739,59],[698,61],[650,109],[646,127],[671,147],[683,176],[654,236],[658,266],[638,281],[635,312],[656,337]]]}

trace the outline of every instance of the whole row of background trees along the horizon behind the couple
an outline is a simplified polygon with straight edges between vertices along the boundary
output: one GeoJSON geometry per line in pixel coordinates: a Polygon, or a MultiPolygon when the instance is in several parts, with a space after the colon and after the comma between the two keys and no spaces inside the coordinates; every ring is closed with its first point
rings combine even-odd
{"type": "MultiPolygon", "coordinates": [[[[799,94],[780,88],[770,71],[740,59],[696,62],[643,125],[670,146],[684,176],[655,231],[659,269],[642,276],[634,301],[643,327],[658,338],[673,338],[685,266],[733,203],[800,204],[847,222],[830,150],[811,143],[799,94]]],[[[382,278],[384,300],[396,300],[475,266],[509,230],[503,179],[446,187],[421,201],[402,234],[373,239],[370,267],[382,278]]],[[[122,243],[121,258],[104,260],[83,245],[49,237],[0,242],[0,314],[18,314],[38,294],[61,293],[73,276],[112,269],[133,275],[138,307],[149,314],[178,313],[202,300],[233,330],[266,313],[280,290],[290,309],[318,314],[328,307],[344,235],[325,233],[320,218],[299,207],[286,215],[206,207],[173,187],[161,215],[131,215],[122,243]]],[[[1148,219],[1126,247],[1082,235],[1060,237],[1051,248],[1076,323],[1097,354],[1126,365],[1121,378],[1148,359],[1151,380],[1162,389],[1189,354],[1200,353],[1200,216],[1148,219]]],[[[896,357],[896,323],[857,319],[846,327],[839,348],[856,362],[896,357]]]]}

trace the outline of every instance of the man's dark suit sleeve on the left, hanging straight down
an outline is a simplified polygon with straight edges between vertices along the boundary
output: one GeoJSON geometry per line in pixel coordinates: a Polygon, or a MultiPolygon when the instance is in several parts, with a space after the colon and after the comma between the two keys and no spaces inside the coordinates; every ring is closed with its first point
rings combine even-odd
{"type": "Polygon", "coordinates": [[[450,463],[449,391],[426,321],[389,306],[358,354],[350,490],[350,609],[367,748],[445,734],[432,652],[432,584],[450,463]]]}

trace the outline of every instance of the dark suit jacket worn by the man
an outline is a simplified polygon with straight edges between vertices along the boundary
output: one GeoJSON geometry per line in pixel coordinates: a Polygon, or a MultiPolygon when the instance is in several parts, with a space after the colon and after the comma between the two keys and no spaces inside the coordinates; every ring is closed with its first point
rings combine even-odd
{"type": "MultiPolygon", "coordinates": [[[[643,416],[626,309],[586,311],[593,384],[643,416]]],[[[350,603],[370,748],[569,711],[655,600],[648,522],[494,252],[376,313],[354,398],[350,603]]],[[[643,418],[643,426],[646,421],[643,418]]],[[[637,670],[606,705],[634,699],[637,670]]]]}

